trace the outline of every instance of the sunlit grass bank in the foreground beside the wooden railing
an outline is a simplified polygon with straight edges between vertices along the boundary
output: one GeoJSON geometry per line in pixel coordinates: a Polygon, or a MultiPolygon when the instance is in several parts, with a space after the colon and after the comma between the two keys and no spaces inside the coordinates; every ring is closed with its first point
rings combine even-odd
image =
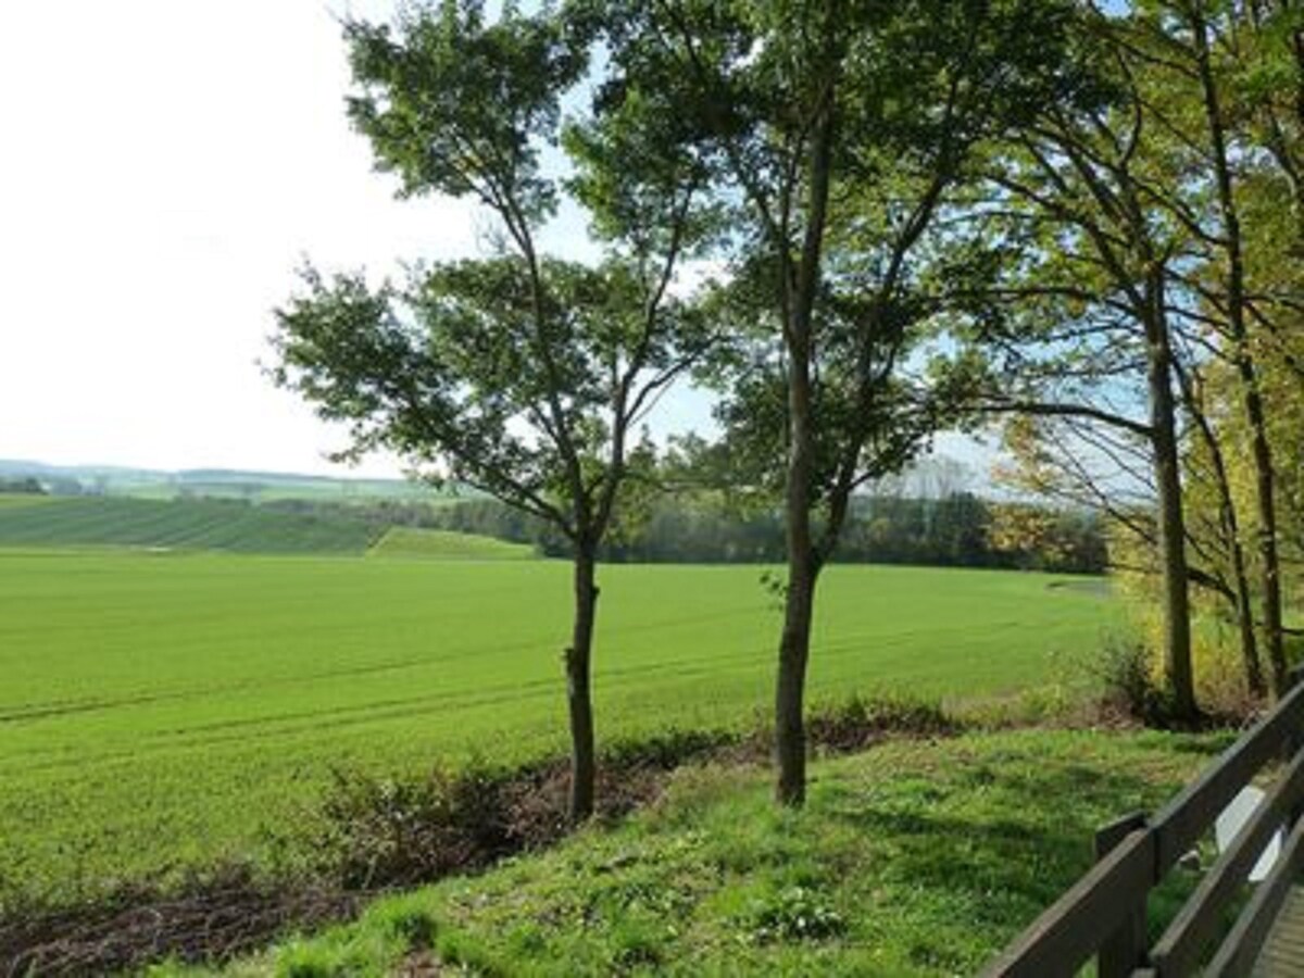
{"type": "Polygon", "coordinates": [[[475,974],[973,974],[1091,863],[1101,823],[1153,810],[1223,743],[893,742],[814,764],[799,812],[755,769],[687,768],[613,829],[379,900],[226,973],[360,978],[420,955],[475,974]]]}

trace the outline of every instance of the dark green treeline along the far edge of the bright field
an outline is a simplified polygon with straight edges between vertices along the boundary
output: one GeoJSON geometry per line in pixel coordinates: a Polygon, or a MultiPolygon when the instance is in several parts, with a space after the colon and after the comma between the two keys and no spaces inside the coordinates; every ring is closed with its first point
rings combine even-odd
{"type": "MultiPolygon", "coordinates": [[[[426,509],[386,507],[403,522],[532,544],[569,557],[570,544],[548,523],[494,499],[426,509]]],[[[777,563],[784,559],[777,509],[739,511],[713,494],[659,499],[636,526],[601,546],[615,563],[777,563]]],[[[914,563],[1099,574],[1106,569],[1102,522],[1091,512],[1024,502],[992,502],[973,493],[940,499],[861,497],[835,562],[914,563]]]]}

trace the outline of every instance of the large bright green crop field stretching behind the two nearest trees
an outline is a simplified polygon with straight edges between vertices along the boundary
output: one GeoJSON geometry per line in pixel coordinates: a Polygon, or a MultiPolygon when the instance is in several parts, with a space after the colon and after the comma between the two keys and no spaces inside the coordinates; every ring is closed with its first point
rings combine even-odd
{"type": "MultiPolygon", "coordinates": [[[[759,576],[601,570],[600,738],[767,709],[759,576]]],[[[0,896],[270,858],[331,767],[562,750],[569,593],[553,561],[0,550],[0,896]]],[[[1115,615],[1098,582],[961,570],[835,566],[820,601],[812,699],[1046,687],[1115,615]]]]}

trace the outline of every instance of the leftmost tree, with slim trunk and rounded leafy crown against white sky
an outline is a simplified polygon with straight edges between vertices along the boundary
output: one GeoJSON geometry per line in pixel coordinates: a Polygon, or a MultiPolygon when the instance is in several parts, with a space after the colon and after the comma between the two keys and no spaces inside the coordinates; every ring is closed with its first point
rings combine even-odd
{"type": "Polygon", "coordinates": [[[408,9],[396,30],[346,25],[357,86],[348,111],[402,196],[479,201],[497,254],[416,266],[403,286],[309,269],[278,312],[275,379],[351,428],[343,452],[389,449],[428,477],[481,489],[548,522],[574,561],[565,651],[570,816],[593,810],[591,662],[597,550],[648,449],[638,426],[703,349],[700,317],[672,295],[704,223],[690,155],[608,176],[629,151],[626,119],[595,112],[567,130],[574,173],[542,153],[563,133],[559,99],[583,80],[583,23],[477,0],[408,9]],[[544,254],[539,232],[566,196],[606,243],[585,266],[544,254]]]}

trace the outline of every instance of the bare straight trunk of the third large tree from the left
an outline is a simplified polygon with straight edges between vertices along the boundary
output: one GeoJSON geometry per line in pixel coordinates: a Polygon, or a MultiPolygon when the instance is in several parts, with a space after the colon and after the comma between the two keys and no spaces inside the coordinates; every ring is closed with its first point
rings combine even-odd
{"type": "Polygon", "coordinates": [[[1146,383],[1154,445],[1154,481],[1159,496],[1159,554],[1163,579],[1163,670],[1178,720],[1196,717],[1191,669],[1191,596],[1187,580],[1187,532],[1181,511],[1176,408],[1172,396],[1172,348],[1163,312],[1163,271],[1146,283],[1146,383]]]}

